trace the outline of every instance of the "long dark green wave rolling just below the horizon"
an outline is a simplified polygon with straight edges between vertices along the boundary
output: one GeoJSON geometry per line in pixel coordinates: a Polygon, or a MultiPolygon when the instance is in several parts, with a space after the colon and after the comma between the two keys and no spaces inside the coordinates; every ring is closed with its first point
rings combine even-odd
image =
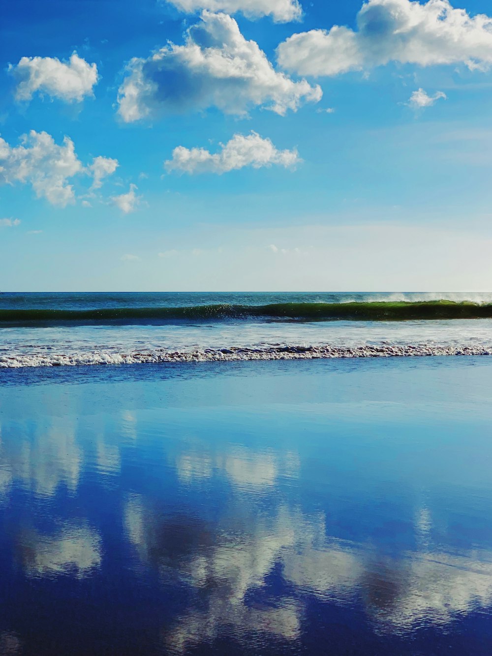
{"type": "Polygon", "coordinates": [[[1,310],[0,325],[147,324],[169,321],[224,321],[248,318],[297,321],[407,321],[492,318],[492,304],[432,300],[420,302],[276,303],[197,305],[182,308],[102,308],[94,310],[1,310]]]}

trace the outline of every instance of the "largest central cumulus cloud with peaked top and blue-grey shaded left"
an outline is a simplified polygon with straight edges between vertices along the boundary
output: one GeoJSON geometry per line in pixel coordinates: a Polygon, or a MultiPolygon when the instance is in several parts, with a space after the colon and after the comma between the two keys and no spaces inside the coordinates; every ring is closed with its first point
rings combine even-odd
{"type": "Polygon", "coordinates": [[[169,43],[147,59],[134,58],[128,73],[118,92],[119,115],[127,123],[210,107],[246,115],[261,106],[284,115],[322,95],[318,85],[274,70],[234,18],[208,11],[186,31],[184,45],[169,43]]]}

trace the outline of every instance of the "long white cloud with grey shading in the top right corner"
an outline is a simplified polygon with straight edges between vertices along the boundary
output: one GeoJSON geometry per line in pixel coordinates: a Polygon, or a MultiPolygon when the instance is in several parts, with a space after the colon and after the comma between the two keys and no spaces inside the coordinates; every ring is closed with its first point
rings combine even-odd
{"type": "Polygon", "coordinates": [[[277,49],[282,68],[300,75],[337,75],[395,61],[432,66],[492,63],[492,18],[471,17],[448,0],[369,0],[358,30],[333,26],[295,34],[277,49]]]}

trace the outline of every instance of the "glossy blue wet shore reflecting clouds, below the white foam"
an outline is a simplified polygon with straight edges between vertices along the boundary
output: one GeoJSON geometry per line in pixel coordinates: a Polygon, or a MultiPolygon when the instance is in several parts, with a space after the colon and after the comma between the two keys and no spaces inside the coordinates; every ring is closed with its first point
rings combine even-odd
{"type": "Polygon", "coordinates": [[[0,653],[491,653],[488,359],[2,382],[0,653]]]}

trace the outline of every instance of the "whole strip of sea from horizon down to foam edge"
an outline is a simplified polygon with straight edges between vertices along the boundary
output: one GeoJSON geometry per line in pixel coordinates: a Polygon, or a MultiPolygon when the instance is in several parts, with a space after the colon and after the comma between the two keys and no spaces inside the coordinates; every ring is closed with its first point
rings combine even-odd
{"type": "Polygon", "coordinates": [[[0,367],[490,355],[492,295],[3,293],[0,367]]]}

